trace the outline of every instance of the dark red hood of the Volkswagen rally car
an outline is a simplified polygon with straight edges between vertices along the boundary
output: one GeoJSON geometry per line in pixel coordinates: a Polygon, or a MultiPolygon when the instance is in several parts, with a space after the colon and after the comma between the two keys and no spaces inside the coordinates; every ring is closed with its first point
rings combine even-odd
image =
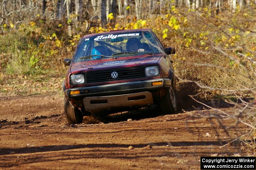
{"type": "Polygon", "coordinates": [[[142,65],[155,65],[162,56],[163,54],[138,55],[132,57],[119,57],[117,59],[109,58],[103,60],[86,61],[72,64],[70,67],[70,71],[72,74],[74,74],[87,71],[106,70],[123,67],[136,67],[142,65]]]}

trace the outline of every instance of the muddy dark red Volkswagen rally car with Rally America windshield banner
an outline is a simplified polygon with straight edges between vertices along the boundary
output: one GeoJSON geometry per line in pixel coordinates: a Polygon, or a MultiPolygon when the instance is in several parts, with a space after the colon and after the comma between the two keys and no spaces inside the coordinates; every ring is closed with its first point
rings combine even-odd
{"type": "Polygon", "coordinates": [[[151,29],[117,30],[81,38],[63,82],[64,112],[69,124],[84,115],[107,115],[157,104],[176,112],[176,76],[164,48],[151,29]]]}

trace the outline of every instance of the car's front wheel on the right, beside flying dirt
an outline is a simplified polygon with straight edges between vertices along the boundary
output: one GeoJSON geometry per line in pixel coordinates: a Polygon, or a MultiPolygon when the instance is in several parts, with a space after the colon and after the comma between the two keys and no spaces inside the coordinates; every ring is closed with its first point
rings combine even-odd
{"type": "Polygon", "coordinates": [[[164,114],[173,114],[174,112],[176,112],[176,94],[172,85],[160,101],[160,109],[164,114]]]}

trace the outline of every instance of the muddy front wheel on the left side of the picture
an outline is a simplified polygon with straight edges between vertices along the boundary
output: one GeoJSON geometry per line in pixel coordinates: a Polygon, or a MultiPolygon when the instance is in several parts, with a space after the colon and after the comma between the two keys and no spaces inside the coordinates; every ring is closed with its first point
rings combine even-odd
{"type": "Polygon", "coordinates": [[[64,97],[64,112],[68,124],[80,124],[83,122],[82,112],[72,106],[66,97],[64,97]]]}

